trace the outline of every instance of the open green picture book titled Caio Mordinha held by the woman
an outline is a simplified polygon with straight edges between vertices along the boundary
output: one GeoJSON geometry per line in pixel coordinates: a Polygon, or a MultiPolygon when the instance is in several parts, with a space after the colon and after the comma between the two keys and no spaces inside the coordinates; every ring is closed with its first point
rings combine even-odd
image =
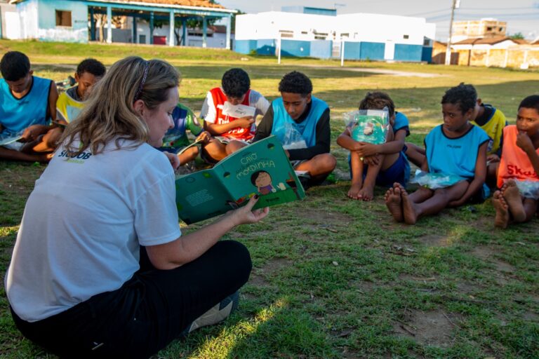
{"type": "Polygon", "coordinates": [[[191,224],[239,208],[258,195],[256,208],[305,198],[276,136],[250,144],[213,168],[176,177],[176,205],[191,224]]]}

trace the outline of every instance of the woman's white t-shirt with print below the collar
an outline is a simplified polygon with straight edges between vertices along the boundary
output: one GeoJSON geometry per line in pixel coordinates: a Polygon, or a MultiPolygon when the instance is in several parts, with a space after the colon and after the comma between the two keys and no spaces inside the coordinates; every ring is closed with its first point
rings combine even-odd
{"type": "Polygon", "coordinates": [[[139,269],[140,245],[180,235],[164,154],[133,142],[76,158],[61,148],[26,203],[6,273],[9,302],[29,322],[61,313],[119,289],[139,269]]]}

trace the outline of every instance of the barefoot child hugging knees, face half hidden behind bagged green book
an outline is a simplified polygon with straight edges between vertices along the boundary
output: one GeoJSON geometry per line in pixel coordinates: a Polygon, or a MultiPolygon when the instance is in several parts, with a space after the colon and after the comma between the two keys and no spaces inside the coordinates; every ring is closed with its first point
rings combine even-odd
{"type": "Polygon", "coordinates": [[[367,93],[359,103],[359,109],[389,110],[391,128],[387,133],[387,141],[383,144],[357,142],[352,139],[350,128],[337,138],[337,143],[350,150],[350,172],[352,185],[347,196],[352,199],[371,201],[374,185],[391,187],[399,182],[406,187],[410,177],[410,165],[402,152],[404,139],[410,135],[408,118],[395,112],[395,105],[386,93],[367,93]]]}

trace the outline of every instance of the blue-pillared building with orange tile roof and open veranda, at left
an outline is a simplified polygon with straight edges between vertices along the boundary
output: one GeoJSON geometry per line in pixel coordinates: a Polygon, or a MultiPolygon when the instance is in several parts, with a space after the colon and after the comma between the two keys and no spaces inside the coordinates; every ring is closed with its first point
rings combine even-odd
{"type": "Polygon", "coordinates": [[[206,47],[208,19],[224,19],[223,47],[229,48],[231,18],[237,13],[209,0],[11,0],[11,4],[16,4],[18,18],[8,26],[20,29],[18,39],[82,43],[98,38],[99,24],[105,27],[104,37],[109,43],[117,40],[187,45],[187,21],[194,19],[202,22],[201,46],[206,47]],[[124,29],[113,28],[113,17],[128,19],[123,21],[124,29]],[[157,21],[159,28],[155,27],[157,21]],[[178,26],[169,26],[178,22],[181,43],[174,34],[178,26]],[[115,31],[126,29],[128,32],[115,31]]]}

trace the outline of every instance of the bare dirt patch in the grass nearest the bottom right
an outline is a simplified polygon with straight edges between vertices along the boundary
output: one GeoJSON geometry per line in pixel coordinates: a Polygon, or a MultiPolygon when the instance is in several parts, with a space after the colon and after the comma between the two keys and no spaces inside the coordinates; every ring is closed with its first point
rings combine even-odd
{"type": "Polygon", "coordinates": [[[444,311],[410,311],[405,320],[393,325],[394,332],[420,344],[430,346],[452,346],[454,329],[459,318],[444,311]]]}

